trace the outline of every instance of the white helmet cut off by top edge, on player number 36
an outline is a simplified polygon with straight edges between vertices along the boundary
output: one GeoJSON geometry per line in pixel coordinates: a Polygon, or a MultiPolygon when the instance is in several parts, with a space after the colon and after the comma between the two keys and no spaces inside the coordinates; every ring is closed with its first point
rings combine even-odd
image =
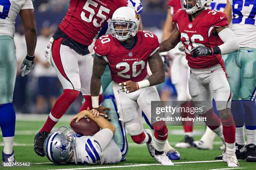
{"type": "Polygon", "coordinates": [[[192,7],[189,3],[187,3],[188,0],[181,0],[182,3],[182,9],[186,10],[188,14],[194,14],[199,10],[202,10],[204,7],[209,7],[211,2],[213,0],[191,0],[191,1],[196,1],[195,7],[192,7]]]}

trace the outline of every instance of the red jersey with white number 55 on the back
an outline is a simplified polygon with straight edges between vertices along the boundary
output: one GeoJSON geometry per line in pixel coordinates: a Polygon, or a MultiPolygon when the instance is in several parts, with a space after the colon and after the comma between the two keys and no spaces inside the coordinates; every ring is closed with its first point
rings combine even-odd
{"type": "Polygon", "coordinates": [[[59,28],[73,40],[91,45],[115,10],[123,6],[127,6],[127,0],[70,0],[59,28]]]}

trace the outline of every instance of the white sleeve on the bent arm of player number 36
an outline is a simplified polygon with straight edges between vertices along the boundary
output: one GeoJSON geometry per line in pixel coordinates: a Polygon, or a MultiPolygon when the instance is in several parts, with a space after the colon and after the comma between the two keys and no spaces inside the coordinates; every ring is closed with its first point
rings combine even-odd
{"type": "Polygon", "coordinates": [[[219,45],[221,54],[229,54],[239,50],[239,43],[234,32],[229,28],[218,33],[220,39],[224,42],[222,45],[219,45]]]}

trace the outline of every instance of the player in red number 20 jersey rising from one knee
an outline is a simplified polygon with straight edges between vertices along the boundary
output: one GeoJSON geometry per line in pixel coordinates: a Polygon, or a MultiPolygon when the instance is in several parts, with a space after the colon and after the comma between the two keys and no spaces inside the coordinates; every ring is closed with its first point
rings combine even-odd
{"type": "Polygon", "coordinates": [[[151,120],[151,101],[160,101],[154,85],[164,82],[164,68],[158,53],[159,41],[148,31],[138,31],[135,10],[121,7],[111,20],[111,34],[100,37],[94,46],[95,58],[91,80],[92,106],[99,107],[101,76],[109,65],[113,91],[120,119],[135,143],[146,143],[148,150],[162,165],[174,165],[164,153],[168,130],[164,121],[151,120]],[[151,76],[147,73],[147,63],[151,76]],[[93,88],[92,88],[93,87],[93,88]],[[154,127],[143,130],[141,110],[154,127]]]}

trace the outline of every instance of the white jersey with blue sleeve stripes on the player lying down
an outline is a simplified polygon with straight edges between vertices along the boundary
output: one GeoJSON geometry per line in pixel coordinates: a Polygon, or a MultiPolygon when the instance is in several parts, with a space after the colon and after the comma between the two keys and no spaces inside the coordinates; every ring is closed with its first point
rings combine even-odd
{"type": "Polygon", "coordinates": [[[78,136],[74,151],[75,162],[79,165],[105,165],[118,163],[122,159],[121,151],[114,140],[103,151],[99,148],[93,136],[78,136]]]}

